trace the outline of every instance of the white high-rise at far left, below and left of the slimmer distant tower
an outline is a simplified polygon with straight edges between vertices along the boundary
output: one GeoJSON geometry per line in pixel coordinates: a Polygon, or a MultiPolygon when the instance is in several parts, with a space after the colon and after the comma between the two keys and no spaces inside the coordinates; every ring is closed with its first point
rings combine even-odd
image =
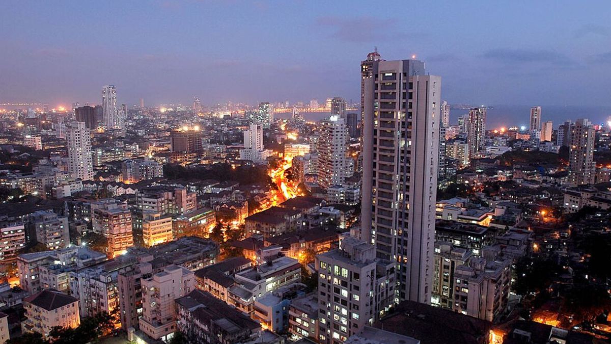
{"type": "Polygon", "coordinates": [[[67,127],[68,172],[83,181],[93,179],[91,137],[85,122],[70,122],[67,127]]]}

